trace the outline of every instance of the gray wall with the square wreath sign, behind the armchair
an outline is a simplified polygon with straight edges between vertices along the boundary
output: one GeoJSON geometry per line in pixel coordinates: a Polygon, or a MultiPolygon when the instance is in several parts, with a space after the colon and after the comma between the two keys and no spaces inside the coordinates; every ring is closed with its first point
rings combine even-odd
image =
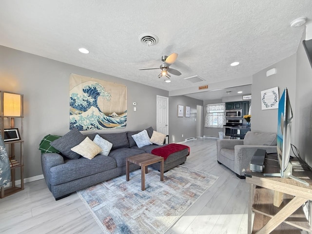
{"type": "MultiPolygon", "coordinates": [[[[252,119],[253,132],[277,132],[277,110],[261,110],[261,91],[278,87],[279,98],[285,87],[288,88],[292,110],[295,110],[296,100],[296,55],[283,59],[266,69],[254,74],[252,84],[252,119]],[[266,77],[266,72],[276,68],[276,74],[266,77]]],[[[293,123],[295,122],[295,116],[293,123]]],[[[292,132],[294,127],[292,128],[292,132]]],[[[292,137],[293,138],[293,137],[292,137]]]]}

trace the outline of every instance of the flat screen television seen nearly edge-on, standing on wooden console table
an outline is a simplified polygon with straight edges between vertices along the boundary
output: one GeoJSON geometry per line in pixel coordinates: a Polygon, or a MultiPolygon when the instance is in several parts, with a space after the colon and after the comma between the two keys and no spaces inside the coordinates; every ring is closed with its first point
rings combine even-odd
{"type": "Polygon", "coordinates": [[[303,184],[309,185],[304,180],[292,176],[292,163],[290,161],[291,151],[291,130],[292,130],[292,106],[285,88],[278,103],[277,114],[277,157],[280,173],[264,174],[264,176],[280,176],[282,178],[292,178],[303,184]]]}

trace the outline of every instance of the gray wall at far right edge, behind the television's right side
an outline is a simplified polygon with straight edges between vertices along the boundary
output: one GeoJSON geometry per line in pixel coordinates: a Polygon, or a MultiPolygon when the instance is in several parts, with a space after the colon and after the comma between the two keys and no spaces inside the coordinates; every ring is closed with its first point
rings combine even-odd
{"type": "Polygon", "coordinates": [[[296,65],[296,102],[295,108],[292,108],[296,122],[294,131],[292,129],[295,135],[292,144],[299,149],[301,157],[312,166],[312,67],[302,43],[298,47],[296,65]]]}

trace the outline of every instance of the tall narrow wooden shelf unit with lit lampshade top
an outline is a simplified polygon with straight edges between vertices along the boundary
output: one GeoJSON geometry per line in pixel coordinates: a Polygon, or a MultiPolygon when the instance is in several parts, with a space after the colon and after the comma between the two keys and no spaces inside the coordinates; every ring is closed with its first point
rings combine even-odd
{"type": "Polygon", "coordinates": [[[23,162],[23,95],[16,94],[11,92],[0,91],[0,133],[2,139],[4,139],[4,125],[5,120],[9,122],[9,128],[15,128],[15,121],[20,120],[19,122],[19,133],[20,140],[6,141],[4,144],[7,146],[7,151],[10,159],[10,169],[11,169],[11,186],[8,188],[0,188],[0,198],[15,194],[24,190],[24,162],[23,162]],[[5,116],[4,115],[4,93],[20,95],[20,116],[5,116]],[[19,150],[16,151],[15,147],[19,147],[19,150]],[[20,170],[20,186],[16,186],[16,170],[20,170]]]}

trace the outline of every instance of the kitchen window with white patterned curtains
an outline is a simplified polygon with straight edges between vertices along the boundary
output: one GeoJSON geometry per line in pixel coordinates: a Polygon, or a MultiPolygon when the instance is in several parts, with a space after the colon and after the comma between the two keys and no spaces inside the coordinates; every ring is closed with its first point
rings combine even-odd
{"type": "Polygon", "coordinates": [[[222,128],[225,124],[225,103],[208,104],[205,118],[205,127],[222,128]]]}

